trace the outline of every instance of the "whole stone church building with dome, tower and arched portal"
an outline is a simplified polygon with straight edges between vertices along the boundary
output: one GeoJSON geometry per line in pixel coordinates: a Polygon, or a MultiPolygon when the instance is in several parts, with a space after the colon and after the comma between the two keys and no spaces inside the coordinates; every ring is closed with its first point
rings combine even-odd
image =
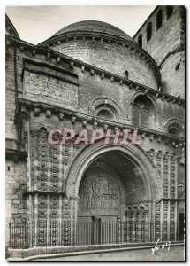
{"type": "Polygon", "coordinates": [[[38,45],[6,16],[6,245],[72,245],[96,220],[183,239],[184,125],[183,6],[133,38],[87,20],[38,45]]]}

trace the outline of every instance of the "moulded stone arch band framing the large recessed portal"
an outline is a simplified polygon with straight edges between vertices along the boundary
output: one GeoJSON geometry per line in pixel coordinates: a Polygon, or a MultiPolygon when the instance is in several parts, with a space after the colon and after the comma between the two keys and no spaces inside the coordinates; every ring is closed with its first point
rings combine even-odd
{"type": "Polygon", "coordinates": [[[142,178],[148,192],[148,199],[160,198],[162,184],[160,178],[156,176],[156,170],[152,167],[149,160],[141,153],[139,149],[124,145],[103,145],[96,143],[93,146],[87,146],[75,157],[65,176],[65,192],[67,195],[78,196],[80,181],[89,165],[103,153],[118,152],[123,156],[131,158],[133,164],[142,169],[142,178]]]}

